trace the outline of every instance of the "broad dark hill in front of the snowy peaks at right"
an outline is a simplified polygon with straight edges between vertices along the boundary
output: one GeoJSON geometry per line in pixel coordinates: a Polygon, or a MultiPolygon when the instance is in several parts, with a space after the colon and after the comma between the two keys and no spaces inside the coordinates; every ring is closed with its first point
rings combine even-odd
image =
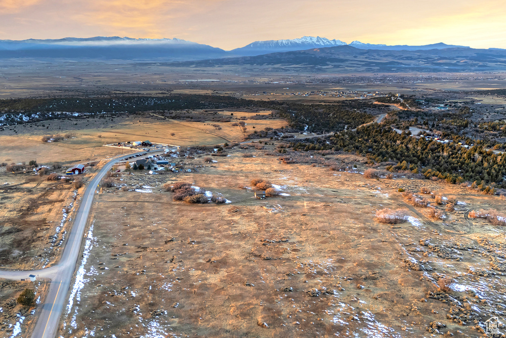
{"type": "Polygon", "coordinates": [[[315,48],[196,62],[174,62],[177,67],[240,67],[290,72],[470,72],[506,70],[506,50],[446,48],[417,51],[358,49],[352,46],[315,48]]]}

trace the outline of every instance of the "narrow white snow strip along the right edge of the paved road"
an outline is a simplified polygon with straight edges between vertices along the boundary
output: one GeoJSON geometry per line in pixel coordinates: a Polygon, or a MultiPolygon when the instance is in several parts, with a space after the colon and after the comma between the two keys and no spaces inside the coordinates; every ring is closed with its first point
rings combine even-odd
{"type": "MultiPolygon", "coordinates": [[[[82,251],[81,264],[77,269],[75,282],[72,287],[72,290],[70,291],[70,297],[67,304],[67,314],[66,314],[67,316],[70,314],[70,310],[72,310],[72,306],[74,305],[74,299],[77,304],[79,304],[81,301],[81,289],[85,286],[85,283],[89,281],[89,279],[85,279],[85,275],[97,274],[93,266],[90,268],[90,271],[88,273],[86,273],[85,269],[86,262],[88,261],[88,257],[90,256],[90,251],[93,248],[93,245],[96,241],[96,238],[93,237],[94,224],[95,221],[93,221],[92,225],[90,226],[90,230],[88,230],[88,234],[86,236],[85,248],[82,251]]],[[[77,323],[75,321],[76,315],[77,315],[77,307],[75,308],[72,320],[70,321],[70,326],[72,326],[74,329],[77,328],[77,323]]]]}

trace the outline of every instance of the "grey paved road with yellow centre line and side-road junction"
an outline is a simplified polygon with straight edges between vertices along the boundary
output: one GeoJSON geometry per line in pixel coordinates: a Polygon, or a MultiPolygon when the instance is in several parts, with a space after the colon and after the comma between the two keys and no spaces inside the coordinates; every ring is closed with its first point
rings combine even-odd
{"type": "MultiPolygon", "coordinates": [[[[151,151],[149,154],[161,151],[163,150],[151,151]]],[[[30,274],[37,275],[39,278],[44,277],[51,279],[46,301],[36,309],[38,319],[32,333],[32,338],[54,338],[56,335],[61,314],[67,304],[67,293],[70,288],[72,277],[74,276],[83,235],[88,223],[88,217],[93,198],[97,191],[97,186],[114,163],[128,158],[131,155],[132,154],[125,154],[114,157],[105,164],[97,175],[95,175],[93,180],[88,183],[85,193],[80,200],[79,208],[77,209],[70,234],[67,237],[60,262],[57,265],[32,271],[0,271],[0,277],[13,280],[28,278],[30,274]]]]}

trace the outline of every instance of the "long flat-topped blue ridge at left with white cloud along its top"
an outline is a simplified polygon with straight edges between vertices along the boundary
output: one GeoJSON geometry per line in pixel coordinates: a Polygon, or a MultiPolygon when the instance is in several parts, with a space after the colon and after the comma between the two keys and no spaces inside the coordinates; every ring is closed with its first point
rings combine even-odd
{"type": "Polygon", "coordinates": [[[129,37],[0,40],[0,58],[202,60],[227,57],[222,49],[181,39],[129,37]]]}

